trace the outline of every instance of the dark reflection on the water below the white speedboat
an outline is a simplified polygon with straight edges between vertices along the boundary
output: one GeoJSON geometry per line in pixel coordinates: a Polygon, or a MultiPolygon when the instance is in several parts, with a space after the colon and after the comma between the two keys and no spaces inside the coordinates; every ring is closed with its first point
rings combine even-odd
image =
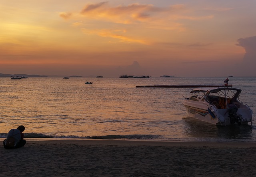
{"type": "Polygon", "coordinates": [[[196,139],[210,141],[247,141],[253,139],[251,125],[216,126],[204,121],[186,117],[184,121],[184,134],[196,139]]]}

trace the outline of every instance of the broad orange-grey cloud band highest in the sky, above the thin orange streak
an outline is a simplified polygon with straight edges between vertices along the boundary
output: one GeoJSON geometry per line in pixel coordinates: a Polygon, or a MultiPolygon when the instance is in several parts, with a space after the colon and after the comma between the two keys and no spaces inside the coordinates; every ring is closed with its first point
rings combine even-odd
{"type": "MultiPolygon", "coordinates": [[[[165,18],[165,22],[178,19],[204,20],[213,18],[212,15],[192,16],[182,14],[186,9],[187,7],[184,4],[175,4],[164,8],[155,7],[152,4],[139,3],[111,7],[108,2],[100,2],[87,4],[80,12],[74,13],[80,14],[84,18],[121,24],[137,24],[140,22],[152,23],[153,20],[160,20],[162,18],[165,18]]],[[[60,12],[59,15],[64,19],[72,17],[72,13],[70,12],[60,12]]]]}

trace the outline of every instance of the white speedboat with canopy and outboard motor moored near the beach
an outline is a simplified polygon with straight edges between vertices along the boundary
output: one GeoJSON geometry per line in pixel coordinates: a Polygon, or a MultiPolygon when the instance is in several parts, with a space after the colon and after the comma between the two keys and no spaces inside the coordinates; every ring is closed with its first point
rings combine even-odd
{"type": "Polygon", "coordinates": [[[195,88],[183,105],[188,115],[214,125],[252,124],[252,110],[239,100],[241,89],[195,88]]]}

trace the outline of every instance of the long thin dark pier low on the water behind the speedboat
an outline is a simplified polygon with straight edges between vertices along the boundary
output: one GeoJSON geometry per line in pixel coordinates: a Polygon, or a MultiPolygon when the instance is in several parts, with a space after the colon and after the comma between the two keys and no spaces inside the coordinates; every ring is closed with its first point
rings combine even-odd
{"type": "MultiPolygon", "coordinates": [[[[153,86],[136,86],[136,88],[200,88],[200,87],[224,87],[214,85],[153,85],[153,86]]],[[[228,85],[232,87],[232,85],[228,85]]]]}

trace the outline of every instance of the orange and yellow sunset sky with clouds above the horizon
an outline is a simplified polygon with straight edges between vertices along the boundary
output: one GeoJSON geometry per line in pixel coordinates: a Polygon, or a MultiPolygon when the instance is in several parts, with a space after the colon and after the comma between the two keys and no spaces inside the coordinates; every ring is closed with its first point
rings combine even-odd
{"type": "Polygon", "coordinates": [[[256,76],[256,0],[0,0],[0,73],[256,76]]]}

